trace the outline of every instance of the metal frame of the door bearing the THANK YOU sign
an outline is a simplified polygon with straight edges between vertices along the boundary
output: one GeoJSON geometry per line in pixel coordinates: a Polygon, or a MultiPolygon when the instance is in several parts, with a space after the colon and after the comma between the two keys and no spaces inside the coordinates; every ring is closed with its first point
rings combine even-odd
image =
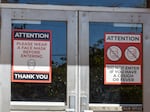
{"type": "Polygon", "coordinates": [[[60,10],[58,7],[40,5],[1,4],[0,40],[0,111],[77,110],[77,11],[60,10]],[[67,103],[65,102],[11,102],[11,29],[13,20],[66,21],[67,24],[67,103]],[[11,107],[10,107],[11,102],[11,107]],[[9,108],[8,108],[9,107],[9,108]],[[68,110],[67,110],[68,109],[68,110]]]}

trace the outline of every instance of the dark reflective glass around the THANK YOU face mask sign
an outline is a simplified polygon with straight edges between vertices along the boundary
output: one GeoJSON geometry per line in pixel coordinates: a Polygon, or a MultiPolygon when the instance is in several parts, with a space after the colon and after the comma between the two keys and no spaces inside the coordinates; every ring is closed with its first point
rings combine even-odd
{"type": "Polygon", "coordinates": [[[39,21],[17,23],[13,29],[52,31],[52,83],[12,83],[12,101],[66,101],[67,79],[67,24],[66,22],[39,21]],[[32,24],[31,24],[32,23],[32,24]]]}

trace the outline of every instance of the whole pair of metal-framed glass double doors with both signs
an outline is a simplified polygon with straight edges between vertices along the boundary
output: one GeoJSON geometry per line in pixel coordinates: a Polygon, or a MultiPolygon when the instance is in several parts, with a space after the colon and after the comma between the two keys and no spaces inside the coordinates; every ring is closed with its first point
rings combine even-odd
{"type": "Polygon", "coordinates": [[[2,111],[10,101],[11,111],[148,111],[148,11],[10,5],[1,14],[2,111]],[[28,38],[14,38],[16,32],[28,38]],[[39,32],[50,32],[49,44],[29,39],[39,32]],[[35,78],[45,66],[49,80],[35,78]]]}

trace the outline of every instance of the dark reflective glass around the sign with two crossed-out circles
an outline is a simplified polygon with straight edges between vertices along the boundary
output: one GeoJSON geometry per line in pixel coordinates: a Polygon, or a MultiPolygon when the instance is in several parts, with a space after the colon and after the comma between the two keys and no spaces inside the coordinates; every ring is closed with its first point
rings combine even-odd
{"type": "Polygon", "coordinates": [[[104,34],[142,33],[142,24],[90,23],[90,102],[112,104],[142,103],[142,85],[104,84],[104,34]]]}

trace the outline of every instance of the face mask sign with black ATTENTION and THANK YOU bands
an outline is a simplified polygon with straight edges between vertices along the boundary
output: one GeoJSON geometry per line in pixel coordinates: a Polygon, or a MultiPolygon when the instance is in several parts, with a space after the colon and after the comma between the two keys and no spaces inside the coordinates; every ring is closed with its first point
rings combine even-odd
{"type": "Polygon", "coordinates": [[[12,31],[12,82],[51,82],[51,38],[49,30],[12,31]]]}

